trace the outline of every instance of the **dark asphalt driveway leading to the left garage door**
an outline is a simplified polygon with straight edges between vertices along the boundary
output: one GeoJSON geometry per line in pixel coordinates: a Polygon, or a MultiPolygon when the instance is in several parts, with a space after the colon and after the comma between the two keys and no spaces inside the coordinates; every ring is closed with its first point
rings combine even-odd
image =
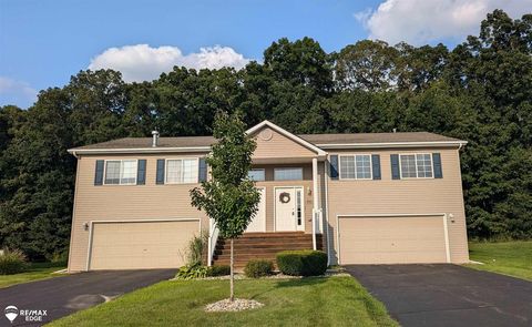
{"type": "Polygon", "coordinates": [[[40,326],[136,288],[170,279],[175,272],[176,269],[89,272],[0,288],[0,326],[40,326]],[[12,325],[4,316],[8,306],[14,306],[19,311],[12,325]],[[27,323],[20,310],[34,310],[28,313],[28,319],[41,317],[42,321],[27,323]]]}

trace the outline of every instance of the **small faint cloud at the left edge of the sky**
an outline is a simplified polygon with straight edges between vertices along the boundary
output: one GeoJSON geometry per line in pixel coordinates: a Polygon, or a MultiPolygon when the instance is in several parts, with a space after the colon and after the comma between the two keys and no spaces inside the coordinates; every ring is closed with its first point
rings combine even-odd
{"type": "Polygon", "coordinates": [[[28,108],[37,101],[37,93],[27,82],[0,76],[0,105],[16,104],[28,108]]]}

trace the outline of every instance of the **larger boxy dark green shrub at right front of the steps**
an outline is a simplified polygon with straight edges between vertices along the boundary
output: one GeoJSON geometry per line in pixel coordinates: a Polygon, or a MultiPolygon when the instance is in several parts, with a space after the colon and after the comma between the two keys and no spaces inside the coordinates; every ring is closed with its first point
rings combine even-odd
{"type": "Polygon", "coordinates": [[[311,249],[279,252],[277,254],[277,267],[285,275],[324,275],[327,270],[327,254],[311,249]]]}

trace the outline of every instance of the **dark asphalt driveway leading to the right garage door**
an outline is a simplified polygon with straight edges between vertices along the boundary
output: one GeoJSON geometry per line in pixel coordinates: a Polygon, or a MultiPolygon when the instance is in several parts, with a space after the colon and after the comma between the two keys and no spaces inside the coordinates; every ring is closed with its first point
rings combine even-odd
{"type": "Polygon", "coordinates": [[[532,326],[532,283],[456,265],[346,266],[402,326],[532,326]]]}

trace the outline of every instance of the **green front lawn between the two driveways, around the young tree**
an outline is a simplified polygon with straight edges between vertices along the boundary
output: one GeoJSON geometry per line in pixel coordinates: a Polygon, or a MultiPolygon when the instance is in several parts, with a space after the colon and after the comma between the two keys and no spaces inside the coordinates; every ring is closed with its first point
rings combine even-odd
{"type": "Polygon", "coordinates": [[[236,297],[265,306],[204,311],[228,290],[228,280],[162,282],[50,326],[398,326],[381,303],[347,276],[236,280],[236,297]]]}

